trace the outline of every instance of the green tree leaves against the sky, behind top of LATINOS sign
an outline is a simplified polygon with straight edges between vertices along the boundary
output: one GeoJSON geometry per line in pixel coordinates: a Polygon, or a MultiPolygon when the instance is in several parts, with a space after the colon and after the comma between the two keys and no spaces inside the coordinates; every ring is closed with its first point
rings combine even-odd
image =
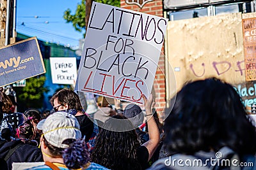
{"type": "MultiPolygon", "coordinates": [[[[120,7],[120,0],[95,0],[95,2],[120,7]]],[[[64,11],[63,18],[67,23],[72,23],[76,31],[85,32],[85,16],[85,0],[82,0],[81,4],[77,4],[76,13],[74,15],[72,15],[72,11],[68,8],[66,11],[64,11]]]]}

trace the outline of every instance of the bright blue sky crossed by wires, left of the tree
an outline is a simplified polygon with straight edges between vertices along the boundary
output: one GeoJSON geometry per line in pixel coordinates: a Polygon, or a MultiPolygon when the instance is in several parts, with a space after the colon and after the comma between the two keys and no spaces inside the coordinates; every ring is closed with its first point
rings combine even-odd
{"type": "Polygon", "coordinates": [[[74,14],[78,3],[81,0],[17,0],[16,31],[77,48],[83,32],[76,31],[72,23],[67,24],[63,14],[68,8],[74,14]]]}

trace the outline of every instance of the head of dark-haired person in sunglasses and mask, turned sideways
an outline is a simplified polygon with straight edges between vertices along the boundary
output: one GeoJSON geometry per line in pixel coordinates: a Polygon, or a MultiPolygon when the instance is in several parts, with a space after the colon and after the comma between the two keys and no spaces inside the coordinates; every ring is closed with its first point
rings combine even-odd
{"type": "Polygon", "coordinates": [[[51,104],[55,111],[74,109],[84,112],[79,96],[70,89],[62,89],[56,92],[51,98],[51,104]]]}

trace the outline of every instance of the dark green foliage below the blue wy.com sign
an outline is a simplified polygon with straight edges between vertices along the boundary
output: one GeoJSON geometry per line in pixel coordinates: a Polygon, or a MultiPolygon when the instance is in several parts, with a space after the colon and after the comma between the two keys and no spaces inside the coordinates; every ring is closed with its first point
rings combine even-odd
{"type": "Polygon", "coordinates": [[[17,94],[18,110],[22,108],[42,108],[44,92],[49,90],[44,87],[45,76],[26,79],[26,87],[13,87],[17,94]]]}

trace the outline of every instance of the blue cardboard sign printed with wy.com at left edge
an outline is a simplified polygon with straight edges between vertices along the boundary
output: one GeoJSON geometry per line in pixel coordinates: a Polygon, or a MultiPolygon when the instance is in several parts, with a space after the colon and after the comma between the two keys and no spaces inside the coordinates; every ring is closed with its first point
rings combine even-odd
{"type": "Polygon", "coordinates": [[[0,87],[45,73],[36,38],[0,48],[0,87]]]}

